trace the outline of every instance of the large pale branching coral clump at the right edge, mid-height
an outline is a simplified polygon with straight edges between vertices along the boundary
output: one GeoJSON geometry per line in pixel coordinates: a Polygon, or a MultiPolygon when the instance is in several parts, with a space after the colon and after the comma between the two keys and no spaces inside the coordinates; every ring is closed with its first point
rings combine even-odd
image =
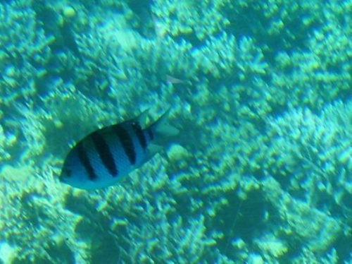
{"type": "Polygon", "coordinates": [[[327,106],[320,116],[308,109],[270,122],[273,138],[268,173],[283,178],[285,188],[325,210],[351,196],[351,101],[327,106]],[[320,193],[320,195],[317,195],[320,193]],[[345,196],[345,197],[344,197],[345,196]],[[327,199],[329,197],[329,199],[327,199]]]}

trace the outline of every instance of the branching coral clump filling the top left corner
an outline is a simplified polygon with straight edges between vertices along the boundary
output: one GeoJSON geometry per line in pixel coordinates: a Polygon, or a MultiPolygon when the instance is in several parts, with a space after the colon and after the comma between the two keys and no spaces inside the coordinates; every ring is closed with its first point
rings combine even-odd
{"type": "Polygon", "coordinates": [[[37,27],[30,1],[1,4],[0,17],[0,102],[7,114],[14,101],[37,96],[34,83],[45,75],[51,40],[37,27]]]}

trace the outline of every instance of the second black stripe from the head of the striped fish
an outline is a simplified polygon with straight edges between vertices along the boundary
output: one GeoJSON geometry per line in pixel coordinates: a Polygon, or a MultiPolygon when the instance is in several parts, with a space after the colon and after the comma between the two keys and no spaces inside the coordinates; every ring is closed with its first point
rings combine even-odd
{"type": "Polygon", "coordinates": [[[118,168],[116,167],[115,161],[113,160],[113,153],[104,140],[103,136],[101,136],[98,132],[92,133],[92,140],[94,143],[94,147],[99,154],[101,162],[103,162],[106,169],[112,176],[118,175],[118,168]]]}

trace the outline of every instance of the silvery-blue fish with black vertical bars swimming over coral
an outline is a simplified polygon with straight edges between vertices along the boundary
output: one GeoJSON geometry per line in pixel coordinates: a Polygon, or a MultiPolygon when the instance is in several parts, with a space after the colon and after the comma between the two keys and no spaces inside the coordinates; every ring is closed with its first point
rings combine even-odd
{"type": "Polygon", "coordinates": [[[68,152],[60,181],[86,190],[116,184],[161,150],[158,144],[165,138],[178,133],[166,124],[169,112],[146,128],[147,111],[90,133],[68,152]]]}

